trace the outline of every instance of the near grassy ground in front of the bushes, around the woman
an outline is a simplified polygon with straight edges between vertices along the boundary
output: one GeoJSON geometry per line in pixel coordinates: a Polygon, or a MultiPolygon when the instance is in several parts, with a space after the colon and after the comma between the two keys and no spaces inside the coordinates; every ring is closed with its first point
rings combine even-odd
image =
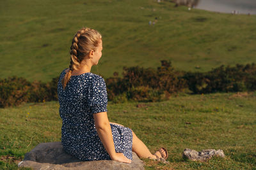
{"type": "MultiPolygon", "coordinates": [[[[169,151],[169,165],[143,159],[146,169],[256,169],[256,93],[177,94],[159,103],[108,104],[109,121],[130,127],[151,152],[169,151]],[[182,159],[185,148],[222,149],[225,159],[182,159]]],[[[39,143],[61,140],[56,101],[0,109],[0,169],[17,163],[39,143]]]]}

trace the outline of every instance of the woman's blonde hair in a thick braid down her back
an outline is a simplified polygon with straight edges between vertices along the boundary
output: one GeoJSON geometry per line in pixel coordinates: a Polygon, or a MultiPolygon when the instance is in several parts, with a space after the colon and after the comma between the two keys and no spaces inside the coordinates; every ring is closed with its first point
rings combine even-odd
{"type": "Polygon", "coordinates": [[[86,57],[91,50],[96,50],[102,36],[94,29],[83,27],[76,32],[70,46],[70,65],[69,71],[61,80],[63,89],[65,89],[68,81],[70,80],[73,70],[77,70],[81,61],[86,57]]]}

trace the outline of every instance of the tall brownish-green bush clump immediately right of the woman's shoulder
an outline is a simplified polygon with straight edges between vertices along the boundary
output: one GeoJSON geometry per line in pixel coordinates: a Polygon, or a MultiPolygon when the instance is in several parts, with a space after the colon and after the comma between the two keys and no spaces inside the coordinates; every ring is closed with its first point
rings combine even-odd
{"type": "Polygon", "coordinates": [[[124,96],[133,101],[161,101],[170,94],[186,88],[184,73],[175,71],[171,62],[162,60],[157,69],[143,67],[124,67],[123,78],[107,78],[108,99],[124,96]]]}

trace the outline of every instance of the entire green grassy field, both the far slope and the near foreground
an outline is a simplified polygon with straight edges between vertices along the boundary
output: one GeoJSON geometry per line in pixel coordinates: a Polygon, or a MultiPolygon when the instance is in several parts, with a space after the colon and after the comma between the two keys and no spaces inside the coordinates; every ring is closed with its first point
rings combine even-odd
{"type": "MultiPolygon", "coordinates": [[[[256,62],[256,15],[173,6],[154,0],[0,1],[0,78],[46,82],[59,76],[83,26],[102,33],[102,58],[92,72],[104,78],[124,66],[157,67],[163,59],[184,71],[256,62]],[[155,17],[156,25],[148,25],[155,17]]],[[[142,108],[109,103],[108,115],[131,127],[150,151],[168,149],[170,165],[146,159],[146,169],[256,169],[255,98],[255,92],[178,94],[142,108]],[[182,159],[185,148],[222,149],[227,158],[191,162],[182,159]]],[[[61,140],[58,108],[52,101],[0,109],[0,169],[18,169],[38,143],[61,140]]]]}

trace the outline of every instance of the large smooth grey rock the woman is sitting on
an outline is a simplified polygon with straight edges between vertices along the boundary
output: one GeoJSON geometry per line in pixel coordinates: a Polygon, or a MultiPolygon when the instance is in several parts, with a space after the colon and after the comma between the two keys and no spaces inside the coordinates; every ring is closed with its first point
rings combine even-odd
{"type": "Polygon", "coordinates": [[[58,169],[144,169],[143,161],[132,153],[132,163],[125,164],[114,160],[82,161],[68,155],[60,142],[40,143],[26,153],[19,167],[31,167],[40,170],[58,169]]]}

